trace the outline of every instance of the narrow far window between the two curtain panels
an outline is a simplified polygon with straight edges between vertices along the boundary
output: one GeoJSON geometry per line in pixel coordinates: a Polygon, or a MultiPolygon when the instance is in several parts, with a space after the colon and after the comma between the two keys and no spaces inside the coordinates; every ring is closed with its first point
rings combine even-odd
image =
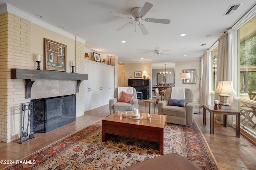
{"type": "Polygon", "coordinates": [[[218,57],[218,47],[211,51],[212,57],[212,91],[215,91],[216,81],[217,81],[217,57],[218,57]]]}

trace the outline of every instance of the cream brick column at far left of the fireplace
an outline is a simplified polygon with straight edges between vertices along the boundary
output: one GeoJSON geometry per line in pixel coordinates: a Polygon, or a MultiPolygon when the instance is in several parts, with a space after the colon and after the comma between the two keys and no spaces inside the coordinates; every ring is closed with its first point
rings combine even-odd
{"type": "Polygon", "coordinates": [[[25,99],[25,81],[10,79],[11,68],[30,69],[30,21],[4,13],[0,15],[0,140],[14,141],[20,134],[20,104],[25,99]]]}

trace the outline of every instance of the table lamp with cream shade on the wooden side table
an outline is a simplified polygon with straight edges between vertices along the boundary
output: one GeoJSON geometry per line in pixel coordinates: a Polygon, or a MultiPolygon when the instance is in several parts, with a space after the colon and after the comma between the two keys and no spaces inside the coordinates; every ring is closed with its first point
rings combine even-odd
{"type": "Polygon", "coordinates": [[[231,81],[218,81],[218,85],[216,87],[215,93],[219,93],[220,96],[220,105],[229,106],[228,98],[230,95],[228,94],[236,94],[233,89],[231,81]]]}

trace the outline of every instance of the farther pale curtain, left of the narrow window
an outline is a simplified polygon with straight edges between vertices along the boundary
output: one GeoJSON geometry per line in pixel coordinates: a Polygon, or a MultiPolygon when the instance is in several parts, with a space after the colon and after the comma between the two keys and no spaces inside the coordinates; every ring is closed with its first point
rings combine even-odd
{"type": "Polygon", "coordinates": [[[203,57],[203,77],[202,77],[202,100],[201,106],[203,105],[210,105],[210,98],[211,98],[211,89],[210,89],[210,53],[209,50],[204,51],[203,57]]]}

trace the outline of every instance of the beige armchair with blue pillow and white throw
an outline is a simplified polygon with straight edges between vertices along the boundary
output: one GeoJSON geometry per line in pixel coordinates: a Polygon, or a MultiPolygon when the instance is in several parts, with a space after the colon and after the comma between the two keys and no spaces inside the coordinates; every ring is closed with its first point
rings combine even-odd
{"type": "Polygon", "coordinates": [[[192,91],[185,90],[185,107],[169,106],[172,88],[167,88],[164,94],[164,100],[158,102],[158,115],[166,115],[168,123],[179,125],[191,125],[194,115],[194,98],[192,91]]]}

